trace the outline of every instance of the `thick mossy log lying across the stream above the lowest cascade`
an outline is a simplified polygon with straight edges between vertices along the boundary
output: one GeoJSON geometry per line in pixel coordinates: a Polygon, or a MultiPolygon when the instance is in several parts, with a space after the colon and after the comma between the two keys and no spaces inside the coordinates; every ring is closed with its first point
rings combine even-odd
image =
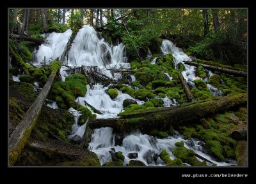
{"type": "Polygon", "coordinates": [[[112,127],[115,132],[125,133],[139,129],[148,133],[153,129],[168,131],[170,126],[193,124],[210,115],[244,106],[247,101],[246,94],[236,96],[213,97],[208,100],[194,101],[170,108],[158,110],[132,111],[122,114],[121,118],[96,119],[90,122],[91,129],[112,127]]]}

